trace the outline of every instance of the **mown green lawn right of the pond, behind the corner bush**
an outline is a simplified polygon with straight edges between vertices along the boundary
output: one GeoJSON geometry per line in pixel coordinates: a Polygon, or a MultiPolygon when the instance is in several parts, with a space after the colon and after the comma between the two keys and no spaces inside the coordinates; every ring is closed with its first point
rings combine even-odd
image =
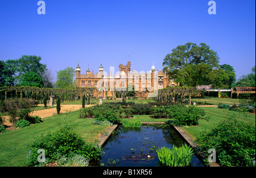
{"type": "Polygon", "coordinates": [[[200,131],[203,131],[204,129],[210,129],[211,127],[214,127],[214,125],[217,125],[219,122],[224,121],[225,115],[228,114],[236,114],[238,120],[240,121],[246,121],[246,122],[252,122],[255,125],[255,115],[247,114],[247,118],[243,116],[243,113],[239,113],[238,111],[230,111],[226,109],[220,109],[216,107],[201,107],[205,110],[206,116],[210,117],[209,122],[205,120],[199,121],[199,126],[183,126],[182,129],[185,130],[192,138],[195,138],[197,134],[200,133],[200,131]]]}

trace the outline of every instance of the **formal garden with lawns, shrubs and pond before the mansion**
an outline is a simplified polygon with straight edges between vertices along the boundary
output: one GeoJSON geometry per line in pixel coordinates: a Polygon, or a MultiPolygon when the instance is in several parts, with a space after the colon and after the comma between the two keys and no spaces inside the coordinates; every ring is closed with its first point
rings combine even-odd
{"type": "Polygon", "coordinates": [[[102,100],[93,96],[95,89],[2,88],[0,165],[209,166],[214,160],[222,167],[255,166],[255,113],[250,113],[255,112],[255,95],[197,97],[195,88],[174,86],[160,89],[151,100],[130,99],[127,93],[122,100],[102,100]],[[53,106],[48,106],[53,96],[53,106]],[[64,105],[80,109],[61,110],[64,105]],[[50,109],[55,114],[49,117],[33,114],[50,109]],[[153,127],[154,122],[164,124],[153,127]],[[115,125],[119,127],[108,133],[115,125]],[[199,149],[184,142],[174,126],[183,129],[199,149]],[[163,143],[162,138],[152,137],[158,130],[164,133],[163,143]],[[125,141],[126,134],[142,131],[146,136],[140,142],[125,141]],[[112,137],[101,146],[101,135],[112,137]],[[104,150],[113,140],[120,148],[129,144],[123,148],[125,155],[104,150]],[[216,151],[216,159],[209,159],[210,149],[216,151]]]}

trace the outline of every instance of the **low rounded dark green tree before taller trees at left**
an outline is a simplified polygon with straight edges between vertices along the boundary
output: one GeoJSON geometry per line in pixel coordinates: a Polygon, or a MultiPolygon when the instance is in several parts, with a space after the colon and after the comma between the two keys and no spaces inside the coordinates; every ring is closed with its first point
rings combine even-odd
{"type": "Polygon", "coordinates": [[[43,80],[38,73],[27,72],[20,80],[19,86],[36,86],[42,88],[43,80]]]}

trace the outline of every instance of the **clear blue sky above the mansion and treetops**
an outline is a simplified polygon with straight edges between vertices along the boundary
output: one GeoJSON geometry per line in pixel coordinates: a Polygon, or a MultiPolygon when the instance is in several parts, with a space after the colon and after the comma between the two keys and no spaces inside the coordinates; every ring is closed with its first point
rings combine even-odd
{"type": "Polygon", "coordinates": [[[42,57],[52,75],[66,67],[97,72],[100,64],[118,71],[162,69],[167,53],[188,42],[206,43],[220,64],[232,65],[237,79],[255,65],[255,1],[207,0],[37,0],[0,1],[0,60],[42,57]]]}

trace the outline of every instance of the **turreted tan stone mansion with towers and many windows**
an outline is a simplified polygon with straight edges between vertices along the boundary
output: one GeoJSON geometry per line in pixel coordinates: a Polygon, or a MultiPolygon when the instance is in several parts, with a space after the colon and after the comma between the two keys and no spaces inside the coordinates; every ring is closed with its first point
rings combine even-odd
{"type": "Polygon", "coordinates": [[[155,70],[154,63],[150,72],[131,71],[131,62],[128,61],[126,65],[119,64],[117,73],[112,72],[110,67],[110,74],[104,71],[102,64],[96,74],[86,70],[85,74],[81,74],[79,64],[76,67],[76,86],[77,87],[96,87],[97,92],[94,96],[112,97],[115,96],[115,91],[128,90],[134,88],[135,96],[137,97],[154,97],[155,91],[168,86],[175,86],[175,82],[170,80],[166,73],[155,70]],[[151,94],[151,95],[150,95],[151,94]]]}

